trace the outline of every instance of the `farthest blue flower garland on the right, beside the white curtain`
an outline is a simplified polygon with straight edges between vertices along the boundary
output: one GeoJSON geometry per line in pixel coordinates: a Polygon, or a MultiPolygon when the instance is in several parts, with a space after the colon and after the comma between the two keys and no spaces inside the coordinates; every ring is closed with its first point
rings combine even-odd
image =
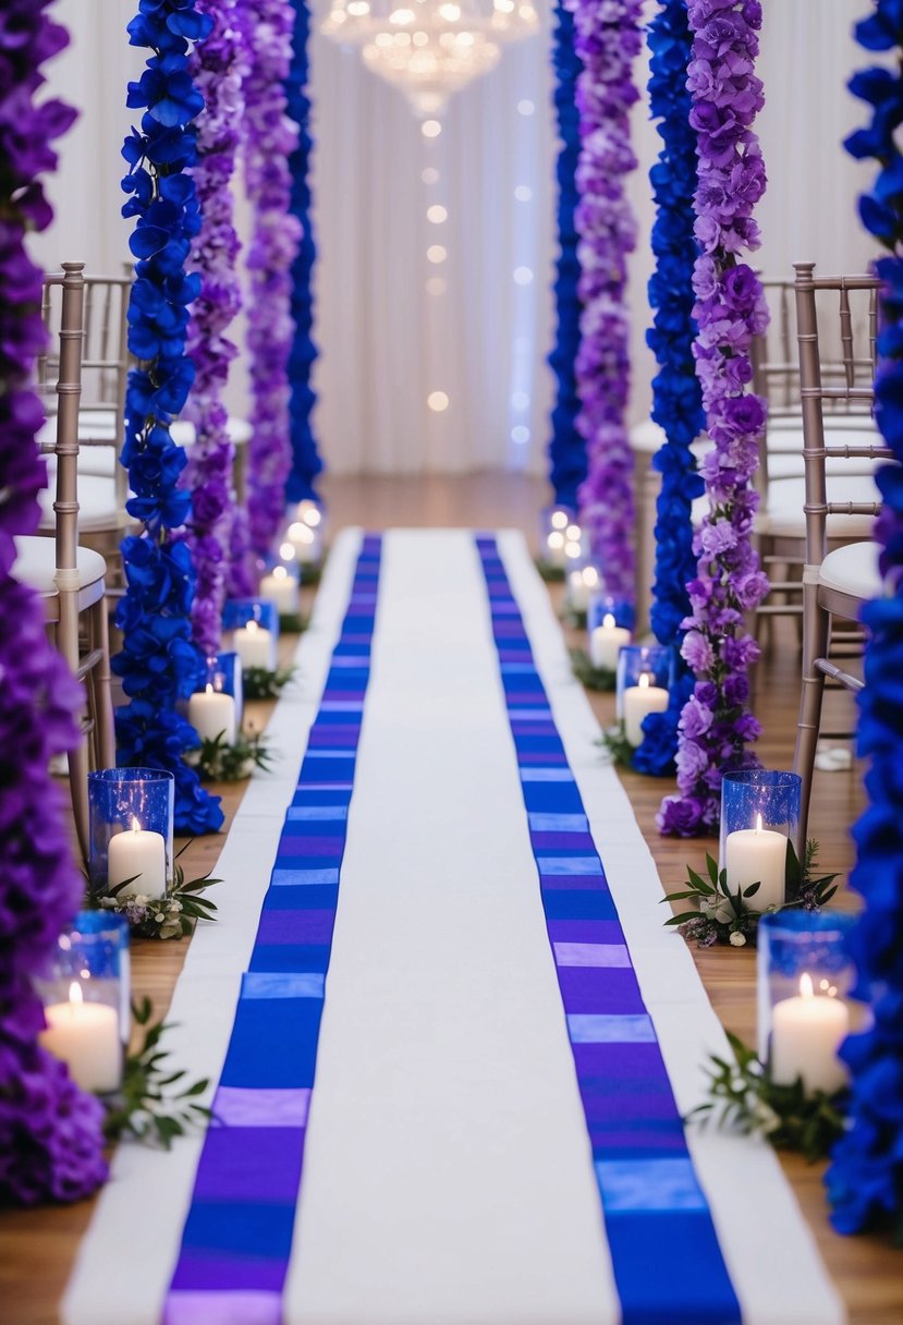
{"type": "Polygon", "coordinates": [[[577,113],[577,76],[581,70],[575,50],[573,16],[564,0],[555,4],[555,110],[561,140],[556,175],[559,184],[557,237],[559,258],[555,276],[555,311],[557,318],[555,347],[548,364],[555,374],[556,399],[552,409],[552,436],[548,444],[549,482],[555,501],[568,510],[577,509],[577,489],[587,477],[587,443],[577,431],[580,398],[575,362],[580,350],[580,262],[577,261],[577,162],[580,159],[580,115],[577,113]]]}

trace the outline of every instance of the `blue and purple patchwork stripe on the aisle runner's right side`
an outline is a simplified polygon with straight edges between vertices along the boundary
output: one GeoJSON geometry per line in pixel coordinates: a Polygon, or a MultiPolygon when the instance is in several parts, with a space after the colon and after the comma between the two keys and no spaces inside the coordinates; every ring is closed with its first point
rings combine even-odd
{"type": "Polygon", "coordinates": [[[736,1325],[740,1306],[523,619],[495,539],[477,538],[477,550],[622,1320],[736,1325]]]}

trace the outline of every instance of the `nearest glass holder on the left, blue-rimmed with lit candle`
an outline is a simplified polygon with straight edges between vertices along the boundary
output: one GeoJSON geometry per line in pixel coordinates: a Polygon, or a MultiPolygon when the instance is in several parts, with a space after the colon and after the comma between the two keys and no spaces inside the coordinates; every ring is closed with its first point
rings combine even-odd
{"type": "Polygon", "coordinates": [[[79,912],[36,980],[46,1028],[38,1040],[83,1090],[122,1085],[131,1028],[128,921],[79,912]]]}

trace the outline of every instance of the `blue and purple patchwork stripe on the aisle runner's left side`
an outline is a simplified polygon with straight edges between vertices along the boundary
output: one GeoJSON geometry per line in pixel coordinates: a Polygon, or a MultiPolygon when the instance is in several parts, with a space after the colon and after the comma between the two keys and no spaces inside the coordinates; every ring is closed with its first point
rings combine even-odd
{"type": "Polygon", "coordinates": [[[164,1325],[279,1325],[369,681],[381,539],[351,600],[286,814],[164,1325]]]}

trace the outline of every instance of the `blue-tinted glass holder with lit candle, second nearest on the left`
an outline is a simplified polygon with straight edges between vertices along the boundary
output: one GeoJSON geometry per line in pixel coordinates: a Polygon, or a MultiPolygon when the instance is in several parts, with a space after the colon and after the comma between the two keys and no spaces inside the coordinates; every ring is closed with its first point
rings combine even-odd
{"type": "Polygon", "coordinates": [[[98,896],[163,897],[172,886],[175,778],[160,768],[98,768],[87,775],[87,873],[98,896]],[[132,880],[132,882],[127,882],[132,880]]]}

